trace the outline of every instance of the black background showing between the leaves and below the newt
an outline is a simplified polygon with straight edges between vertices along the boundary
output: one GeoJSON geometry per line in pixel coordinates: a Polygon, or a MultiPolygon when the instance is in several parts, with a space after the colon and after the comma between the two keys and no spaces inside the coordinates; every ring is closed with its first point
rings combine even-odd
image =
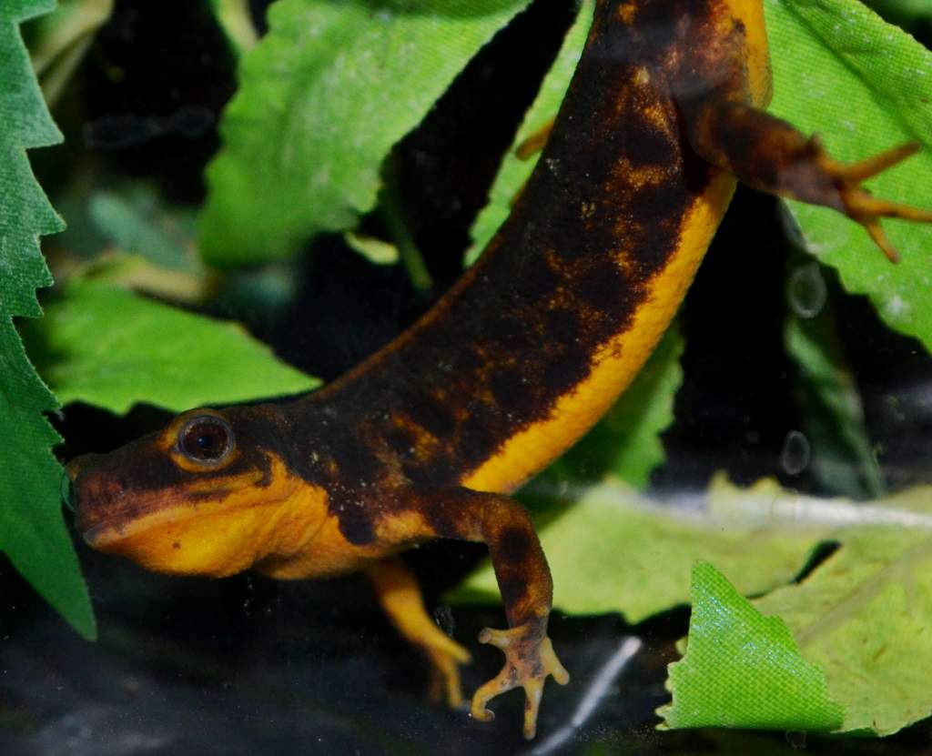
{"type": "MultiPolygon", "coordinates": [[[[295,263],[297,293],[285,306],[219,296],[209,311],[241,319],[282,358],[325,379],[402,331],[458,277],[469,224],[572,12],[568,0],[534,3],[396,150],[406,220],[434,290],[418,293],[400,267],[372,265],[338,237],[324,237],[295,263]]],[[[254,13],[261,24],[264,4],[254,3],[254,13]]],[[[203,167],[218,147],[216,119],[235,89],[234,68],[205,4],[120,0],[56,109],[65,144],[33,155],[40,180],[54,187],[89,167],[106,180],[148,179],[166,200],[199,204],[203,167]],[[152,116],[171,117],[177,128],[150,134],[144,123],[152,116]]],[[[376,218],[366,223],[378,231],[376,218]]],[[[787,266],[777,203],[741,190],[684,307],[685,383],[676,424],[665,434],[668,461],[653,476],[655,492],[702,490],[719,469],[739,483],[776,476],[818,492],[805,471],[788,476],[779,464],[788,431],[800,425],[783,349],[787,266]]],[[[932,411],[923,400],[932,360],[825,275],[891,486],[932,479],[925,465],[932,411]]],[[[56,421],[65,438],[60,455],[107,451],[167,418],[146,407],[125,417],[69,407],[56,421]]],[[[539,739],[526,747],[518,694],[496,700],[491,724],[430,704],[418,653],[395,635],[361,577],[295,584],[250,575],[175,579],[75,544],[100,622],[96,643],[82,641],[0,557],[0,756],[490,755],[540,749],[557,732],[566,739],[548,752],[932,753],[927,722],[883,741],[657,732],[653,709],[667,698],[665,665],[686,630],[683,609],[637,627],[617,615],[555,614],[551,634],[573,680],[567,688],[548,685],[539,739]],[[632,636],[643,641],[641,650],[591,716],[569,725],[597,672],[632,636]]],[[[467,692],[500,665],[498,651],[471,639],[480,628],[499,626],[501,611],[445,607],[439,596],[479,555],[481,548],[448,543],[411,555],[429,605],[473,651],[473,665],[463,670],[467,692]]]]}

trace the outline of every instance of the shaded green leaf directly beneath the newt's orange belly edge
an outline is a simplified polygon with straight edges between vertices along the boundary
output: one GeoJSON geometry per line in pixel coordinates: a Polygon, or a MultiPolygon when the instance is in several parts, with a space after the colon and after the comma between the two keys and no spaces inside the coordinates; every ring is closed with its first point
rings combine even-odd
{"type": "Polygon", "coordinates": [[[651,472],[666,459],[660,434],[673,423],[682,352],[683,338],[674,323],[622,398],[554,463],[551,473],[577,484],[611,474],[638,489],[646,487],[651,472]]]}

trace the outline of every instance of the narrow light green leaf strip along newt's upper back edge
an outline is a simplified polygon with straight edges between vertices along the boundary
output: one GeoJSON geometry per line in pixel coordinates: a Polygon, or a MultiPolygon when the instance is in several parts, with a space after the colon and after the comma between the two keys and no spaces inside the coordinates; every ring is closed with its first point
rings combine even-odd
{"type": "Polygon", "coordinates": [[[525,115],[521,128],[518,129],[512,148],[501,162],[499,173],[489,190],[488,204],[473,223],[470,232],[473,243],[466,250],[465,255],[467,264],[475,262],[479,253],[486,248],[489,239],[504,223],[511,210],[514,197],[528,181],[531,170],[537,164],[540,153],[522,160],[516,154],[517,148],[529,138],[539,134],[541,128],[546,128],[556,115],[556,111],[559,110],[560,102],[563,101],[569,87],[569,79],[572,78],[576,64],[583,54],[583,46],[589,34],[589,28],[592,26],[595,7],[595,0],[583,0],[579,14],[564,37],[563,46],[560,47],[554,64],[544,77],[537,97],[528,108],[528,113],[525,115]]]}

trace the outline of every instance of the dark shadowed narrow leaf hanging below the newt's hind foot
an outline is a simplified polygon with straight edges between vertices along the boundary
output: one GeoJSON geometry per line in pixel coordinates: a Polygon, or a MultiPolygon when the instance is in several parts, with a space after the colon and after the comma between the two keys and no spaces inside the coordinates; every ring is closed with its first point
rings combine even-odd
{"type": "Polygon", "coordinates": [[[818,263],[802,255],[795,255],[794,263],[787,284],[784,339],[788,357],[796,364],[793,394],[812,448],[810,467],[832,493],[876,498],[885,493],[884,476],[838,335],[829,287],[818,263]]]}

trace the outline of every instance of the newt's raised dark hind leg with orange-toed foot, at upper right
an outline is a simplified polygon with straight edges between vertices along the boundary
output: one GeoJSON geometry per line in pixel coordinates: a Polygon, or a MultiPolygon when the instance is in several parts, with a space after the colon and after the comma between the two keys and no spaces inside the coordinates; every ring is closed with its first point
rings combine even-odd
{"type": "Polygon", "coordinates": [[[904,144],[848,164],[828,155],[816,137],[807,138],[786,121],[744,102],[708,98],[681,105],[692,149],[706,161],[756,189],[838,210],[864,226],[894,263],[898,253],[881,219],[932,223],[932,210],[877,199],[861,186],[915,154],[918,145],[904,144]]]}

